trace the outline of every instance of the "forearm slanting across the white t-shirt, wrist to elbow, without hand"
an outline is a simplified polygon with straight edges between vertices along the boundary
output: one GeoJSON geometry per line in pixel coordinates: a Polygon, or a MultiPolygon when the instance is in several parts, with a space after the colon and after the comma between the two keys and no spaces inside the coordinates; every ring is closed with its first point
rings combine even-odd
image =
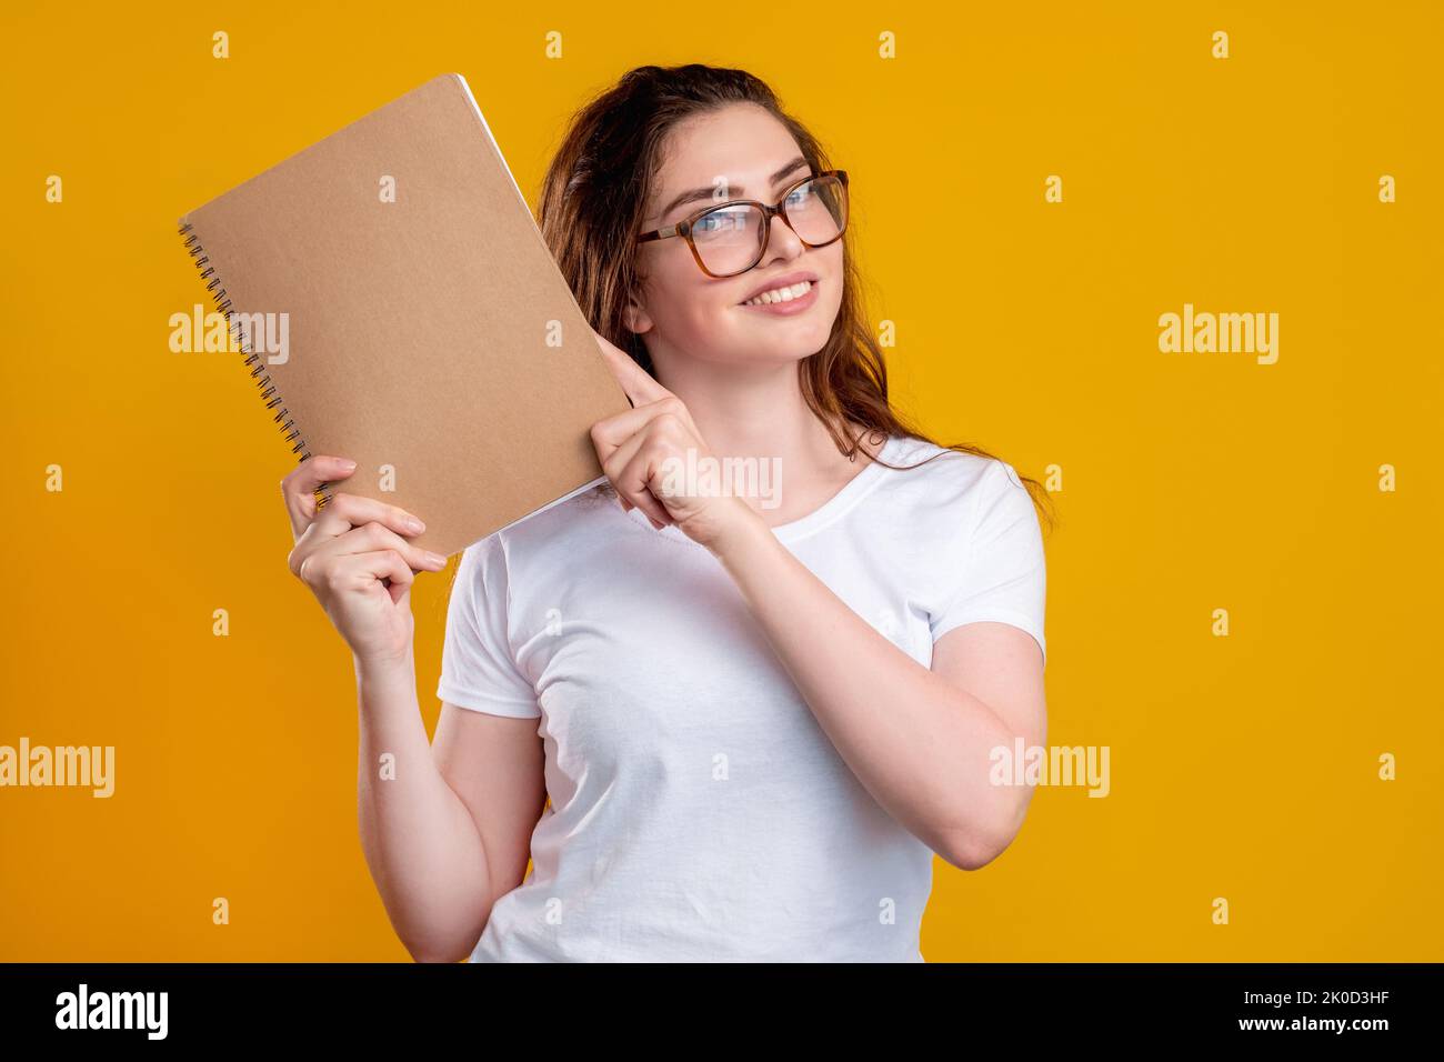
{"type": "Polygon", "coordinates": [[[1031,790],[989,783],[991,751],[1014,743],[998,714],[869,626],[761,519],[712,549],[874,799],[950,863],[1006,845],[1031,790]]]}

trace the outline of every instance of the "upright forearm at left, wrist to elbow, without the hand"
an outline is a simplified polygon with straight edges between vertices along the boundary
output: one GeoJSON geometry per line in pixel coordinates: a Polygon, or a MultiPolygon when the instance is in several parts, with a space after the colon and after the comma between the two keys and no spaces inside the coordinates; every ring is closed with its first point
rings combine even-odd
{"type": "Polygon", "coordinates": [[[357,662],[355,672],[361,848],[413,958],[456,961],[481,936],[494,899],[481,835],[432,759],[414,659],[357,662]]]}

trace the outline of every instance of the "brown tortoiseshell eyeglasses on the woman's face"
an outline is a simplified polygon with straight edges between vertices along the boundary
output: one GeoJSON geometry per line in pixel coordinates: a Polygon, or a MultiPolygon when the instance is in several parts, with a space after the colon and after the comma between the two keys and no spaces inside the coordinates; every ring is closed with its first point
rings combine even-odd
{"type": "Polygon", "coordinates": [[[807,247],[826,247],[840,238],[848,228],[848,172],[829,169],[803,178],[771,207],[757,199],[706,207],[674,225],[643,233],[637,243],[680,236],[703,273],[736,276],[762,260],[777,215],[807,247]]]}

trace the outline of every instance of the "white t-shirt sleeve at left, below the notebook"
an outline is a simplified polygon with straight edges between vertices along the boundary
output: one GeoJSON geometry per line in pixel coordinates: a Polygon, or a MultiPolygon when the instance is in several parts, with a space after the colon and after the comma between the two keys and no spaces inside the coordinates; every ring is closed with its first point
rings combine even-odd
{"type": "Polygon", "coordinates": [[[536,691],[511,659],[507,603],[507,556],[491,535],[466,546],[456,565],[436,696],[475,712],[537,718],[536,691]]]}

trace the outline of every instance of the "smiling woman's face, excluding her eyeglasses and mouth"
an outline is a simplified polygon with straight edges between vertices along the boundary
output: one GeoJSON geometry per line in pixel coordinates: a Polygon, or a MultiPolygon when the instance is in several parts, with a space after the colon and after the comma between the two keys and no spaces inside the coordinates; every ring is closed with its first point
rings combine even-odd
{"type": "MultiPolygon", "coordinates": [[[[671,130],[641,231],[674,224],[725,199],[775,204],[787,186],[812,172],[791,133],[765,108],[729,104],[671,130]],[[693,191],[699,198],[676,202],[693,191]]],[[[832,332],[842,305],[842,240],[807,247],[781,217],[771,220],[762,259],[729,277],[697,269],[680,236],[637,244],[643,295],[628,309],[628,327],[643,335],[658,364],[673,358],[800,361],[822,350],[832,332]],[[794,273],[813,279],[799,305],[786,306],[791,312],[744,305],[794,273]]]]}

